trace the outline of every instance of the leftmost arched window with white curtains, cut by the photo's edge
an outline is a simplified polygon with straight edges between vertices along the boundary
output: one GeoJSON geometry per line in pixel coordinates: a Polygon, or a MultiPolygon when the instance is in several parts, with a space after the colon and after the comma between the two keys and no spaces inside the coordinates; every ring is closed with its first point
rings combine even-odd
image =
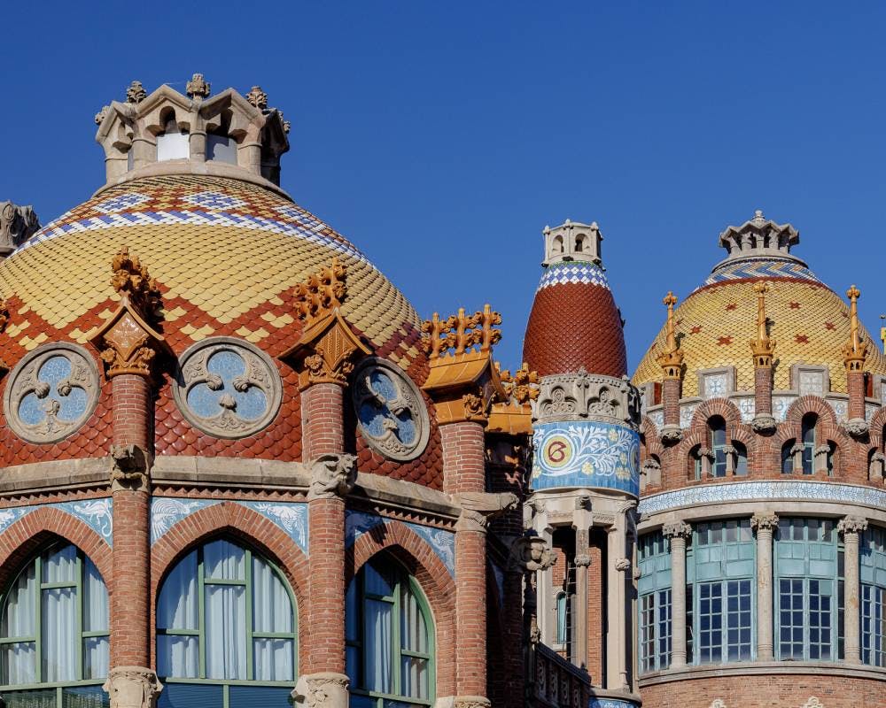
{"type": "Polygon", "coordinates": [[[41,708],[78,700],[102,705],[108,661],[105,581],[82,551],[57,543],[30,560],[4,593],[4,698],[10,705],[41,708]],[[17,690],[24,686],[29,689],[17,690]]]}

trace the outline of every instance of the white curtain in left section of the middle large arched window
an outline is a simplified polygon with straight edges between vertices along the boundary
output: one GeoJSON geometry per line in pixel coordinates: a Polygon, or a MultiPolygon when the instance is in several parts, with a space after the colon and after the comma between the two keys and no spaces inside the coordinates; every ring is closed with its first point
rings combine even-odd
{"type": "MultiPolygon", "coordinates": [[[[197,551],[182,558],[163,583],[157,602],[159,629],[198,631],[197,551]]],[[[157,670],[161,676],[194,679],[199,672],[197,636],[160,635],[157,638],[157,670]]]]}

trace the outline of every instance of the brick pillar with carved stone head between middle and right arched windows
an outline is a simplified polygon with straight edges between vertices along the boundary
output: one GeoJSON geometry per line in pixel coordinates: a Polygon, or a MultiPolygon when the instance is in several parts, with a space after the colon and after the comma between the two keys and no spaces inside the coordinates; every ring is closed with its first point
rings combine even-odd
{"type": "MultiPolygon", "coordinates": [[[[293,696],[323,686],[329,708],[346,708],[345,496],[356,481],[356,458],[344,451],[344,388],[318,382],[301,392],[302,457],[311,473],[307,496],[310,553],[307,666],[293,696]]],[[[310,704],[310,703],[308,703],[310,704]]]]}

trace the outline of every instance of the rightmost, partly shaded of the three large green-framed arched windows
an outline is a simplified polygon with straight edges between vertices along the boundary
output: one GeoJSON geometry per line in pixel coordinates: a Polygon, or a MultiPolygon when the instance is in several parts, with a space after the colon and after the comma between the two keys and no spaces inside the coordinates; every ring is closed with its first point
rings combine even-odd
{"type": "Polygon", "coordinates": [[[346,596],[347,675],[354,708],[418,708],[434,700],[434,625],[416,579],[378,556],[346,596]]]}

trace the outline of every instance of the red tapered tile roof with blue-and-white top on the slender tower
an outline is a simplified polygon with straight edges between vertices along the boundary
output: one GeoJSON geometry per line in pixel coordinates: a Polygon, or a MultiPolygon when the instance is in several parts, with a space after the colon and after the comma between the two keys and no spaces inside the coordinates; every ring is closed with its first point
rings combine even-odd
{"type": "Polygon", "coordinates": [[[600,266],[563,262],[548,266],[535,294],[523,359],[541,376],[577,372],[627,373],[621,315],[600,266]]]}

